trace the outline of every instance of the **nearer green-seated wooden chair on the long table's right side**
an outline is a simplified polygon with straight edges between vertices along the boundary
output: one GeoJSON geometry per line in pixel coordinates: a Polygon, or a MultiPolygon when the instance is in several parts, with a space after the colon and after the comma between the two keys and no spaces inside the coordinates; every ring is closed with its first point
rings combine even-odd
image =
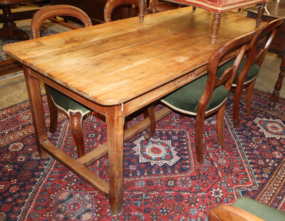
{"type": "Polygon", "coordinates": [[[218,112],[217,132],[219,145],[224,146],[223,116],[229,91],[238,67],[243,59],[249,41],[255,31],[229,41],[221,46],[210,57],[207,75],[204,75],[180,89],[161,98],[161,102],[183,114],[196,115],[195,144],[199,163],[203,163],[203,126],[204,119],[218,112]],[[229,53],[239,50],[233,65],[219,77],[217,68],[222,59],[229,53]]]}

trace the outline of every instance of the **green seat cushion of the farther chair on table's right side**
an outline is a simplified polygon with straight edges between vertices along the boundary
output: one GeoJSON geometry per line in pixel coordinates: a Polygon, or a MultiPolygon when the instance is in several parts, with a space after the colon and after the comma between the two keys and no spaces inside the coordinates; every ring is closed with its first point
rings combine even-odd
{"type": "MultiPolygon", "coordinates": [[[[241,73],[241,71],[243,70],[243,67],[245,66],[245,61],[247,59],[246,58],[243,58],[243,60],[241,61],[241,65],[239,66],[239,69],[237,71],[237,74],[235,75],[235,79],[233,80],[233,85],[237,85],[237,79],[241,73]]],[[[223,64],[222,66],[220,66],[218,69],[217,69],[217,77],[221,77],[221,75],[223,74],[223,72],[231,67],[233,65],[233,62],[235,61],[235,58],[228,61],[227,63],[223,64]]],[[[258,64],[253,64],[250,68],[249,68],[249,71],[247,73],[247,76],[245,77],[245,82],[248,82],[248,81],[251,81],[253,78],[255,78],[257,76],[259,72],[259,66],[258,64]]]]}

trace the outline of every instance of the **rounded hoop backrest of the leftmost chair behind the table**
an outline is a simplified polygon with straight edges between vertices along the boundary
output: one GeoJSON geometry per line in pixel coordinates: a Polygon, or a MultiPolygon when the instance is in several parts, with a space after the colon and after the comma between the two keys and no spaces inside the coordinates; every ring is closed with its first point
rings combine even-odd
{"type": "Polygon", "coordinates": [[[92,26],[88,15],[81,9],[71,5],[52,5],[38,10],[31,21],[31,37],[40,37],[40,26],[44,21],[56,16],[68,15],[80,19],[84,26],[92,26]]]}

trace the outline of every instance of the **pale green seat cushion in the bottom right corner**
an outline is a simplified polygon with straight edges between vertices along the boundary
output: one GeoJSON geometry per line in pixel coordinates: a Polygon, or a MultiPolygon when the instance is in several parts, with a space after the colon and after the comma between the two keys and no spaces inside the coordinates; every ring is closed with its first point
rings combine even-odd
{"type": "Polygon", "coordinates": [[[274,207],[267,206],[257,200],[250,199],[247,197],[242,197],[233,203],[233,206],[241,208],[247,212],[258,216],[266,221],[284,221],[285,212],[278,210],[274,207]]]}

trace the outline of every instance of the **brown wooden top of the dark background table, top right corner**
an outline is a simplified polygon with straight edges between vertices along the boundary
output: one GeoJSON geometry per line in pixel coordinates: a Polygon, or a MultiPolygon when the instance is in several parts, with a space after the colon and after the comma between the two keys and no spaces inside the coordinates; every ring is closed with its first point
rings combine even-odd
{"type": "MultiPolygon", "coordinates": [[[[270,16],[273,18],[281,18],[285,16],[285,0],[280,0],[279,3],[277,1],[270,1],[268,2],[266,8],[270,15],[268,15],[268,13],[264,11],[263,15],[265,16],[270,16]]],[[[257,7],[250,7],[245,9],[245,11],[257,13],[257,7]]]]}

